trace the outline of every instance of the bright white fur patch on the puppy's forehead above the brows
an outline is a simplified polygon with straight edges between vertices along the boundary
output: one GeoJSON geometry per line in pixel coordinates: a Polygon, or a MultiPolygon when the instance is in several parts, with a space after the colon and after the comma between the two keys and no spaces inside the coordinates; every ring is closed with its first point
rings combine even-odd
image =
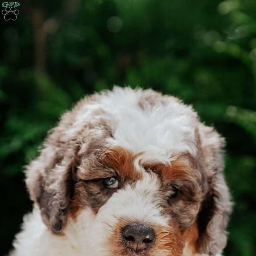
{"type": "Polygon", "coordinates": [[[107,142],[133,154],[144,151],[145,161],[168,161],[184,152],[195,155],[197,115],[192,108],[175,98],[161,102],[157,95],[155,100],[148,97],[129,88],[115,88],[103,97],[101,104],[113,120],[113,137],[107,142]]]}

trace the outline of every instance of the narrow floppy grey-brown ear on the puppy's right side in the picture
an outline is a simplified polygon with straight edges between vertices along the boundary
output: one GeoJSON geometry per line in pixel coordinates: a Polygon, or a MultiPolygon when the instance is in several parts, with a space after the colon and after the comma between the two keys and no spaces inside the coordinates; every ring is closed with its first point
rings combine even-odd
{"type": "Polygon", "coordinates": [[[205,198],[198,215],[198,250],[215,256],[227,243],[227,222],[232,210],[224,180],[224,138],[211,127],[200,125],[200,157],[205,177],[205,198]]]}

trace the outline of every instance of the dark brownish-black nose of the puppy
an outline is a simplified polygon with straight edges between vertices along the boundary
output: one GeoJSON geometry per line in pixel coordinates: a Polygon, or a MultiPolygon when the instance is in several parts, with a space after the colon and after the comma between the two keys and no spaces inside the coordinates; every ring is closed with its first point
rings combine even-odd
{"type": "Polygon", "coordinates": [[[122,230],[125,245],[134,250],[144,250],[154,243],[154,230],[143,224],[129,224],[122,230]]]}

